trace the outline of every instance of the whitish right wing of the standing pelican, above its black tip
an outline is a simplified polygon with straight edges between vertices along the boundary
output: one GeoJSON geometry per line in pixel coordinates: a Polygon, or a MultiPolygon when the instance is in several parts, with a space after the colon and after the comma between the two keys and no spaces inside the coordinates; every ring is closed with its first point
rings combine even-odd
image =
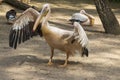
{"type": "Polygon", "coordinates": [[[82,26],[78,22],[74,22],[74,31],[73,34],[70,35],[66,40],[74,43],[75,41],[82,45],[82,47],[86,47],[88,44],[88,37],[82,28],[82,26]]]}

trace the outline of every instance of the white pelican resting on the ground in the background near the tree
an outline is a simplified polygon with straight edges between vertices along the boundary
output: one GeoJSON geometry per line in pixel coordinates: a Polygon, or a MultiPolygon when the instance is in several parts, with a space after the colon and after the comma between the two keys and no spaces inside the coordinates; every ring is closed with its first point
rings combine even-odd
{"type": "Polygon", "coordinates": [[[69,21],[71,21],[72,23],[74,23],[74,21],[77,21],[81,25],[93,26],[94,20],[95,18],[92,15],[86,13],[85,10],[80,10],[79,13],[74,13],[69,21]]]}

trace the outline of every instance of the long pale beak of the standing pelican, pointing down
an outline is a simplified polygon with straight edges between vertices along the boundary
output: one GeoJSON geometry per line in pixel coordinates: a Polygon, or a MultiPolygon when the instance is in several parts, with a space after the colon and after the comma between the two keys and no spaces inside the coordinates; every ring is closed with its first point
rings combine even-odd
{"type": "Polygon", "coordinates": [[[38,25],[40,24],[41,20],[43,19],[43,17],[45,17],[48,13],[48,10],[46,11],[45,8],[42,9],[40,15],[38,16],[38,18],[35,21],[35,24],[33,26],[33,32],[37,29],[38,25]]]}

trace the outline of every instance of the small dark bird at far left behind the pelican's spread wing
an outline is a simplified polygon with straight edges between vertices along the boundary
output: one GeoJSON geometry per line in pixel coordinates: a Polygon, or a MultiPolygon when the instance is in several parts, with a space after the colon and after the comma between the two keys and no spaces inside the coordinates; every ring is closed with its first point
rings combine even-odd
{"type": "Polygon", "coordinates": [[[6,12],[6,19],[8,23],[13,23],[16,18],[16,11],[14,9],[11,9],[6,12]]]}

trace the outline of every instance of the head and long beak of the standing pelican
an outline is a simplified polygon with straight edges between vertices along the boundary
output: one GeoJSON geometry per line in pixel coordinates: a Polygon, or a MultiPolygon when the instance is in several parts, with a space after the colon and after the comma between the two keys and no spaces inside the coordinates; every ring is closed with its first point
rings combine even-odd
{"type": "Polygon", "coordinates": [[[45,17],[48,13],[50,12],[50,5],[49,4],[44,4],[43,5],[43,8],[40,12],[40,15],[38,16],[35,24],[34,24],[34,27],[33,27],[33,31],[36,30],[36,28],[38,27],[39,23],[41,22],[42,18],[45,17]]]}

